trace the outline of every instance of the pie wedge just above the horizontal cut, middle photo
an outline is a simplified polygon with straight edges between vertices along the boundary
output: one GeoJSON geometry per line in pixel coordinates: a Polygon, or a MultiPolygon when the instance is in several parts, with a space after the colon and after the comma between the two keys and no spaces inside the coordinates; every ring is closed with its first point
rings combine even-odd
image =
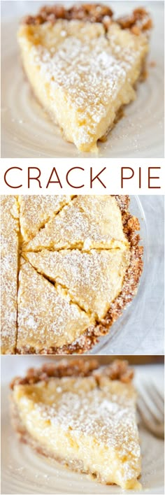
{"type": "Polygon", "coordinates": [[[129,242],[123,231],[121,210],[115,196],[76,196],[35,237],[25,251],[59,249],[124,249],[129,242]]]}

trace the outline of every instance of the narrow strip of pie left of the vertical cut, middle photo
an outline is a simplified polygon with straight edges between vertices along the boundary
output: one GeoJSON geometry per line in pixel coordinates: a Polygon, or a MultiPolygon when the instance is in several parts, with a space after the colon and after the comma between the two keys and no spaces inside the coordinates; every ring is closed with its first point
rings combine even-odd
{"type": "Polygon", "coordinates": [[[13,196],[1,196],[1,353],[15,352],[19,212],[13,196]]]}

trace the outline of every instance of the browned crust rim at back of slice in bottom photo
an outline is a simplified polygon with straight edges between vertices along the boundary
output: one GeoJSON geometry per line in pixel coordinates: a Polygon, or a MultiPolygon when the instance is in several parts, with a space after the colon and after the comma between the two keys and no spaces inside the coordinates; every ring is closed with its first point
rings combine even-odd
{"type": "Polygon", "coordinates": [[[120,380],[120,382],[131,382],[134,371],[129,368],[127,361],[115,359],[108,366],[100,367],[96,359],[63,359],[59,363],[43,364],[41,368],[29,368],[24,378],[16,377],[10,383],[10,388],[15,385],[32,385],[41,380],[48,381],[50,378],[62,378],[64,376],[81,376],[87,377],[94,374],[96,380],[104,375],[110,380],[120,380]]]}

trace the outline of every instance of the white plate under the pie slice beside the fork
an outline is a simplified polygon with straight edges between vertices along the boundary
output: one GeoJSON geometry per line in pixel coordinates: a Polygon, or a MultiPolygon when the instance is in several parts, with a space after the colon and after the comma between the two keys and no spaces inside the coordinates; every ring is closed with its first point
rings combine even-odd
{"type": "MultiPolygon", "coordinates": [[[[19,443],[10,426],[8,383],[28,366],[40,366],[41,357],[2,357],[1,395],[1,493],[3,494],[121,494],[119,487],[97,484],[86,475],[72,473],[60,464],[51,463],[19,443]]],[[[164,389],[163,366],[136,367],[136,385],[141,380],[154,381],[164,389]]],[[[164,442],[152,436],[139,424],[143,456],[142,494],[164,493],[164,442]]],[[[129,493],[131,492],[124,492],[129,493]]],[[[137,494],[137,492],[134,492],[137,494]]]]}

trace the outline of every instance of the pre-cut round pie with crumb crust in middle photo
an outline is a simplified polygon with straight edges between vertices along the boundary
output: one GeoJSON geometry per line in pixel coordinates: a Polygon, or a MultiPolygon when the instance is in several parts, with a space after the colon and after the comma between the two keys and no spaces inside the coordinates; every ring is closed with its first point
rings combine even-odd
{"type": "Polygon", "coordinates": [[[1,196],[1,352],[89,350],[136,294],[128,196],[1,196]]]}

